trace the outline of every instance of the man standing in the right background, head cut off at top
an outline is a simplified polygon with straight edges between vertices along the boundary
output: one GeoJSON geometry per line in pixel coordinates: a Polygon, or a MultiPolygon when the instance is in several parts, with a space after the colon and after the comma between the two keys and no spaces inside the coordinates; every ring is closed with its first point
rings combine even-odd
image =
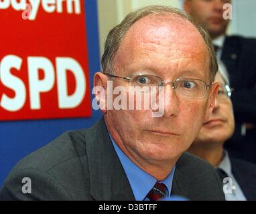
{"type": "Polygon", "coordinates": [[[226,35],[226,3],[231,0],[184,0],[183,6],[210,33],[216,56],[227,67],[231,88],[235,89],[232,101],[236,130],[225,146],[233,155],[256,163],[256,39],[226,35]]]}

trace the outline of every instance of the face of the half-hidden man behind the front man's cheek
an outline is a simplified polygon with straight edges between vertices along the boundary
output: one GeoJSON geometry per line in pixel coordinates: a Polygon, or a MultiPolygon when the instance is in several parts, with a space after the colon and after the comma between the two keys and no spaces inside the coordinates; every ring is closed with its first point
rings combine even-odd
{"type": "Polygon", "coordinates": [[[228,140],[234,132],[235,120],[231,99],[224,96],[225,83],[219,74],[216,82],[220,83],[220,94],[215,98],[215,106],[210,118],[204,122],[194,144],[220,144],[228,140]]]}

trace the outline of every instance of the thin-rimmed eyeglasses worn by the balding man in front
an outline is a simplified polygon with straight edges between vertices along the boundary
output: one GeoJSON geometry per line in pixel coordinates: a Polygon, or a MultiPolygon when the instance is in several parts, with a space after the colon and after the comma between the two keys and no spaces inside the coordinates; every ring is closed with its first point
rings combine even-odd
{"type": "Polygon", "coordinates": [[[130,77],[103,74],[128,81],[129,86],[133,86],[134,92],[140,93],[159,92],[166,84],[172,84],[172,88],[176,91],[177,95],[186,98],[204,98],[210,88],[210,85],[206,84],[203,80],[191,78],[179,78],[174,82],[167,82],[163,81],[159,76],[151,74],[133,74],[130,77]]]}

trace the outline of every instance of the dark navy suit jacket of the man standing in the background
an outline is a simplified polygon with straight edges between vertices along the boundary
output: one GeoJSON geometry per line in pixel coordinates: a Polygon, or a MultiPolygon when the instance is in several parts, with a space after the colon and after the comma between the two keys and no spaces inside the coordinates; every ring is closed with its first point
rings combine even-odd
{"type": "Polygon", "coordinates": [[[241,124],[250,122],[256,126],[256,39],[227,36],[221,60],[229,72],[231,99],[235,112],[235,134],[225,143],[225,148],[237,158],[256,163],[256,128],[241,135],[241,124]]]}

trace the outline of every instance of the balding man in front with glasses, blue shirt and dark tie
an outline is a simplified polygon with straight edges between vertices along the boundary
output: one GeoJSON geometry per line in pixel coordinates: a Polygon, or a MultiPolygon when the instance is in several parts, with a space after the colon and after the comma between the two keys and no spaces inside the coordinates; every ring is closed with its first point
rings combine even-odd
{"type": "MultiPolygon", "coordinates": [[[[214,169],[183,154],[210,116],[218,91],[218,84],[212,84],[218,65],[206,31],[172,7],[145,7],[110,31],[102,66],[94,86],[102,89],[95,94],[103,118],[21,160],[0,198],[224,199],[214,169]],[[153,108],[116,110],[111,102],[118,93],[110,92],[110,83],[125,88],[127,95],[138,95],[144,86],[149,91],[143,96],[164,91],[162,116],[152,116],[153,108]],[[22,177],[31,179],[30,195],[21,193],[22,177]]],[[[135,102],[134,96],[127,97],[135,102]]],[[[153,104],[160,106],[160,101],[153,104]]]]}

